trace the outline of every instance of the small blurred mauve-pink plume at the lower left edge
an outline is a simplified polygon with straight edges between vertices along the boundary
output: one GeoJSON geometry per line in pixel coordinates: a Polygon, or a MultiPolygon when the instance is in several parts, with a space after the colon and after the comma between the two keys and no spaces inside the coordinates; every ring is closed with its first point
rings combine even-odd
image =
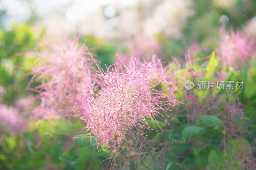
{"type": "Polygon", "coordinates": [[[19,115],[17,108],[0,104],[0,125],[1,129],[7,129],[12,133],[19,133],[25,130],[27,123],[25,123],[24,119],[19,115]]]}

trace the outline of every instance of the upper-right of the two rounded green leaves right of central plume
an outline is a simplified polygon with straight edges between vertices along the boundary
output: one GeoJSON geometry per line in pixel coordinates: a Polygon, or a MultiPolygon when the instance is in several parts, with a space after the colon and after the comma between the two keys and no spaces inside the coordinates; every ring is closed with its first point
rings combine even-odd
{"type": "Polygon", "coordinates": [[[198,116],[196,124],[204,127],[216,126],[220,124],[220,119],[214,115],[198,116]]]}

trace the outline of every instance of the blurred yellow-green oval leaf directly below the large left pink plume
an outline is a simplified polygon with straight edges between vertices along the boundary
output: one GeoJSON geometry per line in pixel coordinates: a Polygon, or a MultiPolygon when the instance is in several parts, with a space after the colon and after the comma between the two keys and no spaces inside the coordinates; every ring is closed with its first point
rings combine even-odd
{"type": "Polygon", "coordinates": [[[36,122],[40,130],[57,135],[70,135],[75,133],[74,126],[65,119],[44,119],[36,122]]]}

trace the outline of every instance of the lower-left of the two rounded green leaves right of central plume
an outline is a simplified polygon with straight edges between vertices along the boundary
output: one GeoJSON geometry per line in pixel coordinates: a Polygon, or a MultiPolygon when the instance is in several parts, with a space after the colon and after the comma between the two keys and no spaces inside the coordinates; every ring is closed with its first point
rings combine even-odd
{"type": "Polygon", "coordinates": [[[182,136],[186,139],[193,139],[196,137],[200,137],[204,134],[205,128],[198,126],[188,126],[182,131],[182,136]]]}

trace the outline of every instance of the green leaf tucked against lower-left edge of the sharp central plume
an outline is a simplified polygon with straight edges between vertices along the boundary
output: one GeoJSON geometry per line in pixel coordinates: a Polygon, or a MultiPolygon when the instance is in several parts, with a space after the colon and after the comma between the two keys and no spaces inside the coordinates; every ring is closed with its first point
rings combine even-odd
{"type": "Polygon", "coordinates": [[[85,146],[92,151],[96,148],[96,138],[95,137],[84,137],[84,135],[77,135],[73,138],[73,141],[77,144],[80,144],[82,146],[85,146]],[[92,144],[91,144],[91,138],[92,138],[92,144]]]}

